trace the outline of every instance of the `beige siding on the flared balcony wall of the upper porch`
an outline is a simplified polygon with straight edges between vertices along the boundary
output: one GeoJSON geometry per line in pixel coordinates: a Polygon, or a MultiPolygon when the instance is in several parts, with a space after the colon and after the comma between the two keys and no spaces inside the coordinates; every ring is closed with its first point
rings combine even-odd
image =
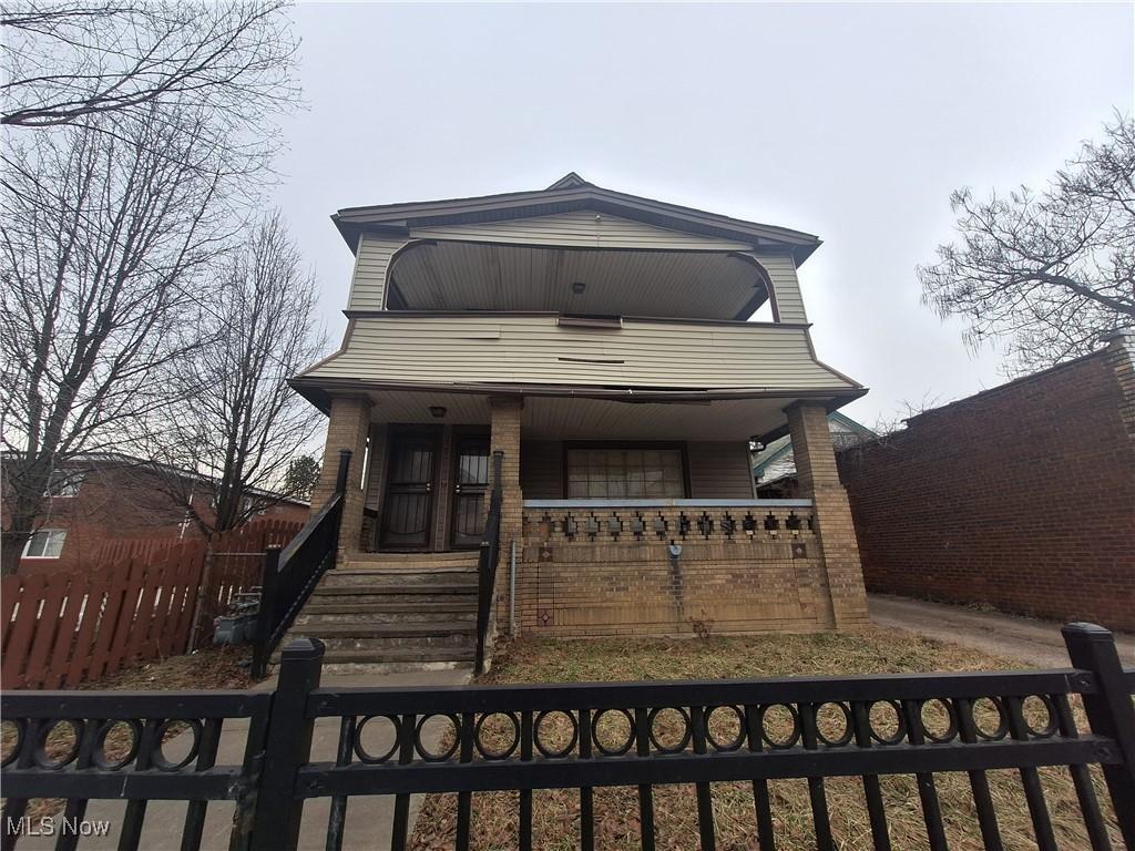
{"type": "Polygon", "coordinates": [[[802,328],[624,320],[558,327],[548,314],[359,318],[346,351],[304,373],[363,381],[829,389],[802,328]],[[498,335],[498,336],[496,336],[498,335]]]}

